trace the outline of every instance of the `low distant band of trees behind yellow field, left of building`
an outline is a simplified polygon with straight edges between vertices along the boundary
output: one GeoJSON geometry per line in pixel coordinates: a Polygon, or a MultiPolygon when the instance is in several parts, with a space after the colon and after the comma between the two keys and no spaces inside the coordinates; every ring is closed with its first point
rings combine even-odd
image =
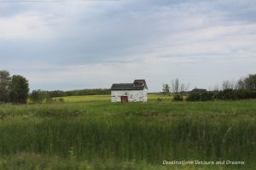
{"type": "Polygon", "coordinates": [[[80,90],[54,90],[54,91],[46,91],[50,97],[65,97],[65,96],[81,96],[81,95],[104,95],[110,94],[111,91],[108,88],[96,88],[96,89],[80,89],[80,90]]]}

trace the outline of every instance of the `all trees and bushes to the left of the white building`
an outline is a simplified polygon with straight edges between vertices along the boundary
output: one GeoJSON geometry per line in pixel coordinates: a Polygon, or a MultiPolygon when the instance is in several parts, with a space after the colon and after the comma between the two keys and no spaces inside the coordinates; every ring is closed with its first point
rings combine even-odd
{"type": "Polygon", "coordinates": [[[27,99],[32,103],[52,102],[55,97],[103,95],[110,94],[110,89],[80,89],[69,91],[33,90],[29,93],[29,83],[20,75],[11,76],[9,71],[0,71],[0,103],[26,104],[27,99]]]}

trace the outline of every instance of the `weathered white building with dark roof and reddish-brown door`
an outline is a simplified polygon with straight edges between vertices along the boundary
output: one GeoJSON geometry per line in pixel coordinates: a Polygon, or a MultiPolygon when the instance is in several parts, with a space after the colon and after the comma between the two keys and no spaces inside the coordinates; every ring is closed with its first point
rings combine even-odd
{"type": "Polygon", "coordinates": [[[112,102],[147,102],[148,87],[144,79],[135,80],[133,83],[112,84],[112,102]]]}

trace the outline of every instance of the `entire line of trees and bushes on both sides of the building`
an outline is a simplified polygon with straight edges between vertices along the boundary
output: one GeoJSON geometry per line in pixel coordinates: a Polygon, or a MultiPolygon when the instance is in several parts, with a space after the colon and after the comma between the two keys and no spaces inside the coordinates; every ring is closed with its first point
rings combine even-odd
{"type": "MultiPolygon", "coordinates": [[[[256,99],[256,74],[250,74],[247,77],[241,77],[238,81],[226,80],[222,83],[219,90],[216,86],[213,90],[194,88],[188,92],[189,84],[185,85],[178,78],[169,84],[163,84],[162,94],[173,95],[173,100],[183,101],[184,95],[188,101],[208,101],[214,99],[256,99]]],[[[0,103],[26,104],[30,98],[32,103],[51,102],[55,97],[81,96],[81,95],[104,95],[111,94],[108,88],[81,89],[69,91],[44,91],[33,90],[29,94],[29,83],[26,77],[9,74],[9,71],[0,71],[0,103]]]]}

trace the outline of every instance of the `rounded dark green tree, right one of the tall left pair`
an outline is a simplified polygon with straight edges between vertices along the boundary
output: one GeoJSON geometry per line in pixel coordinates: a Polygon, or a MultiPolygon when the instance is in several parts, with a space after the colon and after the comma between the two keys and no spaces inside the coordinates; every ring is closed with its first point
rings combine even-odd
{"type": "Polygon", "coordinates": [[[12,103],[26,103],[28,97],[28,81],[25,77],[14,75],[9,85],[9,99],[12,103]]]}

